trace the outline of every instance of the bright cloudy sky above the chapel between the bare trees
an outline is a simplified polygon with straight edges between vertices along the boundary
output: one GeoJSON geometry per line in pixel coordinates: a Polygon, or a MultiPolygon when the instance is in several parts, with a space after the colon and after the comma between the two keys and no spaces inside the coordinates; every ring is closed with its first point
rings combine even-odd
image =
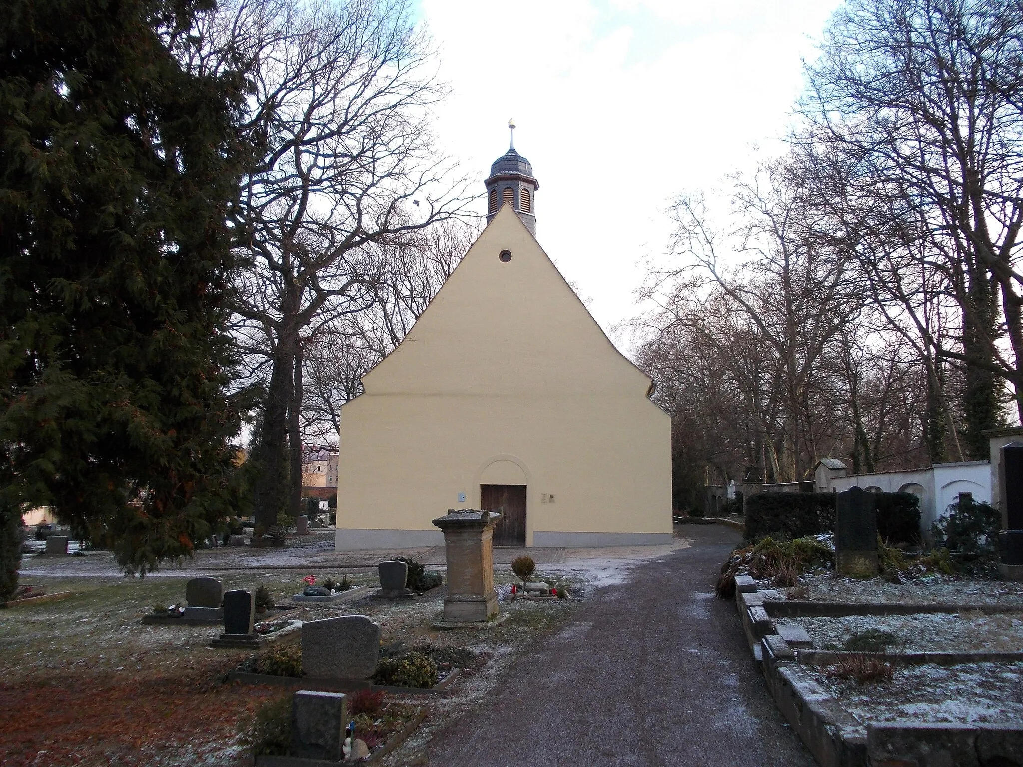
{"type": "Polygon", "coordinates": [[[482,192],[515,119],[539,181],[537,239],[613,331],[640,311],[671,199],[780,152],[802,61],[838,5],[418,0],[451,89],[437,137],[482,192]]]}

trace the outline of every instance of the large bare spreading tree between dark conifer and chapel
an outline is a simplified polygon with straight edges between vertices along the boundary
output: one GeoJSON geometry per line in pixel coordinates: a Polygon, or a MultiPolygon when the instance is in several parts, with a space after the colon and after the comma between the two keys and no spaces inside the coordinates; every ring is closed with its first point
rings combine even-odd
{"type": "Polygon", "coordinates": [[[253,454],[265,528],[300,510],[309,340],[376,301],[371,245],[451,218],[465,198],[432,143],[428,110],[444,91],[403,0],[284,7],[262,29],[243,127],[254,157],[235,219],[249,270],[234,311],[269,368],[253,454]]]}

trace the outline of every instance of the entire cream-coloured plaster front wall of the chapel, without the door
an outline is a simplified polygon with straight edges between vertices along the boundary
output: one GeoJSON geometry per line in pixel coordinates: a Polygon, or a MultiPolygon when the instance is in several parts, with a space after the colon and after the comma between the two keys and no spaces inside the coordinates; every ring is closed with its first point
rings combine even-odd
{"type": "Polygon", "coordinates": [[[439,544],[484,485],[526,486],[528,546],[670,541],[651,382],[503,206],[342,408],[337,548],[439,544]]]}

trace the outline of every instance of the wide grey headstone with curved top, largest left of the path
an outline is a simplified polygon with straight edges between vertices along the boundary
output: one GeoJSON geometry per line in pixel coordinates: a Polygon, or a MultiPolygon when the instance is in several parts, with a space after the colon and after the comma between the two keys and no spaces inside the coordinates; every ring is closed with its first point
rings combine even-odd
{"type": "Polygon", "coordinates": [[[302,670],[318,679],[368,679],[376,669],[381,627],[366,616],[302,624],[302,670]]]}

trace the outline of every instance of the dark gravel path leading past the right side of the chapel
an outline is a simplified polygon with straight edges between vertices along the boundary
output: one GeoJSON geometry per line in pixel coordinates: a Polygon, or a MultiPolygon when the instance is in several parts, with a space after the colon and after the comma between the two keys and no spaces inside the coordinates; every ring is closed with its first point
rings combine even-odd
{"type": "Polygon", "coordinates": [[[599,590],[517,662],[434,738],[429,764],[815,765],[767,693],[735,604],[713,596],[739,534],[685,534],[692,548],[599,590]]]}

